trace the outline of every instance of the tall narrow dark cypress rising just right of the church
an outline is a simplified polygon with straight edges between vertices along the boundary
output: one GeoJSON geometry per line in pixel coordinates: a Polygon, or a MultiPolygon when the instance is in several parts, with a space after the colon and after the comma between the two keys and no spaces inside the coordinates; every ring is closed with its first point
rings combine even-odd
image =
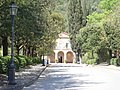
{"type": "Polygon", "coordinates": [[[76,42],[76,35],[79,29],[82,27],[82,6],[81,0],[70,0],[68,7],[68,21],[69,21],[69,33],[72,49],[75,50],[78,45],[76,42]]]}

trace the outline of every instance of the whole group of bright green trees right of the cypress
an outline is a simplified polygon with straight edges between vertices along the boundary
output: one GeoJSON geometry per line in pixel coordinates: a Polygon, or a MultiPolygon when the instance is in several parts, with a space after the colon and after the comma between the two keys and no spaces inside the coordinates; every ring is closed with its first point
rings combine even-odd
{"type": "MultiPolygon", "coordinates": [[[[79,30],[76,38],[82,48],[83,58],[91,53],[87,60],[99,59],[99,63],[108,64],[111,64],[112,54],[119,58],[119,5],[119,0],[101,0],[96,11],[87,16],[87,24],[79,30]]],[[[118,65],[119,60],[116,61],[118,65]]]]}

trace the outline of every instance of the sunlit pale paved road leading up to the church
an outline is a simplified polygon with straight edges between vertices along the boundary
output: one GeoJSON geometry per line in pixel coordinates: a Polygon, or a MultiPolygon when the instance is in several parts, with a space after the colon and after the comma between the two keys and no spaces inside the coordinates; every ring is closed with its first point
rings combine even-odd
{"type": "Polygon", "coordinates": [[[79,64],[52,64],[23,90],[120,90],[120,71],[79,64]]]}

